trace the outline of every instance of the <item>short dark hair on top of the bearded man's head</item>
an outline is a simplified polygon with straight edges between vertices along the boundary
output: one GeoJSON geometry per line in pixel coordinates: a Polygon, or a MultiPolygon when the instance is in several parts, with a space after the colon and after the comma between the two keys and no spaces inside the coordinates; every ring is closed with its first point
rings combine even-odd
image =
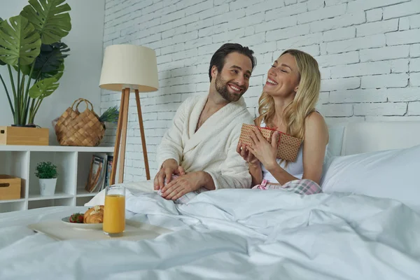
{"type": "Polygon", "coordinates": [[[210,67],[209,67],[209,78],[211,81],[211,67],[216,66],[218,73],[221,73],[223,66],[225,65],[225,57],[229,55],[231,52],[238,52],[241,55],[246,55],[251,59],[252,63],[252,70],[254,69],[255,65],[257,64],[257,59],[253,56],[253,50],[248,47],[244,47],[239,43],[225,43],[221,46],[216,52],[214,52],[213,57],[210,60],[210,67]]]}

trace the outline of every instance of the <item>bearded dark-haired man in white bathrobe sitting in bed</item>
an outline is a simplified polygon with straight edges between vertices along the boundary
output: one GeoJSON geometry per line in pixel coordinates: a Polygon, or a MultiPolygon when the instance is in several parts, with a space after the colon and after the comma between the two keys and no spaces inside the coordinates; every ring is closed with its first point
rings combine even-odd
{"type": "Polygon", "coordinates": [[[242,123],[253,124],[242,95],[255,67],[253,51],[226,43],[211,57],[207,96],[186,99],[158,146],[153,181],[167,200],[197,190],[250,188],[246,162],[236,152],[242,123]],[[172,180],[172,174],[177,175],[172,180]]]}

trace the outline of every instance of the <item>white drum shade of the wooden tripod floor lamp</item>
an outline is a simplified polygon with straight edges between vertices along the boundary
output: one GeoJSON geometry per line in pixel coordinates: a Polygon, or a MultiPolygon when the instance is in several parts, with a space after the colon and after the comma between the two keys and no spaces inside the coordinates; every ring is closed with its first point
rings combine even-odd
{"type": "Polygon", "coordinates": [[[158,64],[155,50],[141,45],[109,45],[105,48],[99,87],[121,91],[158,90],[158,64]]]}

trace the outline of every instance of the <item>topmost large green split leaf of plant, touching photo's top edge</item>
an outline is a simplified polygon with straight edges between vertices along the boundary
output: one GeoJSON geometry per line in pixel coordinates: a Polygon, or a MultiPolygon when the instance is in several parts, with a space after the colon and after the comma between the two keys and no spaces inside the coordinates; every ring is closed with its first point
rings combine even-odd
{"type": "Polygon", "coordinates": [[[20,15],[31,22],[41,35],[44,44],[55,43],[69,34],[71,30],[71,10],[69,4],[60,5],[65,0],[29,0],[20,15]]]}

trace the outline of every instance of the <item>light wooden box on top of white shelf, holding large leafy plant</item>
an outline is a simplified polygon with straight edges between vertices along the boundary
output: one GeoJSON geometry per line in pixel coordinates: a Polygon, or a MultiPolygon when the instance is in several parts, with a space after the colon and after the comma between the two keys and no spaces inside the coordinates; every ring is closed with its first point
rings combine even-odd
{"type": "Polygon", "coordinates": [[[48,128],[0,127],[0,145],[48,146],[48,128]]]}

